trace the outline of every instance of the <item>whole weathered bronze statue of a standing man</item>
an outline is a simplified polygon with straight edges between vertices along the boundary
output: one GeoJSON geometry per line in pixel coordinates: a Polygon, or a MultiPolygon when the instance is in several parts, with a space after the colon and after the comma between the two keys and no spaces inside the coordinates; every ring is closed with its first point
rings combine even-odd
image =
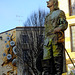
{"type": "Polygon", "coordinates": [[[42,74],[62,75],[64,47],[63,41],[58,42],[58,39],[62,36],[62,33],[64,34],[68,23],[64,12],[58,8],[58,0],[47,1],[47,7],[50,9],[50,14],[45,19],[42,74]]]}

